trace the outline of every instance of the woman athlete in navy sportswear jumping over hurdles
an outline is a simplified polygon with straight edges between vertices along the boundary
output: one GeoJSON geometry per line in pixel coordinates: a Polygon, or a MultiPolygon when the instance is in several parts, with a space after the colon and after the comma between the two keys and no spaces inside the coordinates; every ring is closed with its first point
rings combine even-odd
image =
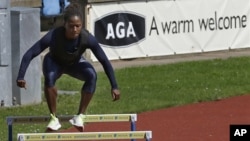
{"type": "Polygon", "coordinates": [[[44,93],[50,112],[50,122],[47,128],[58,130],[61,127],[56,117],[57,89],[56,80],[62,74],[68,74],[84,81],[81,89],[81,99],[77,114],[69,122],[83,128],[83,117],[96,89],[97,74],[93,66],[82,54],[90,49],[102,64],[111,84],[111,95],[114,101],[120,98],[113,67],[93,35],[83,28],[82,8],[77,3],[71,3],[64,11],[64,25],[50,30],[37,41],[23,56],[17,77],[17,86],[26,88],[25,72],[31,60],[49,48],[43,60],[44,93]]]}

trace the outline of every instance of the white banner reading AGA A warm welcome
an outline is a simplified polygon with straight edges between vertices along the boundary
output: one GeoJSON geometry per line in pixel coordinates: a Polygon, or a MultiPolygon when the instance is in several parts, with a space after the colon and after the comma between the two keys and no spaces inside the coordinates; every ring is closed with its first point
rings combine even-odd
{"type": "Polygon", "coordinates": [[[96,3],[88,23],[110,60],[165,56],[250,47],[249,9],[249,0],[96,3]]]}

